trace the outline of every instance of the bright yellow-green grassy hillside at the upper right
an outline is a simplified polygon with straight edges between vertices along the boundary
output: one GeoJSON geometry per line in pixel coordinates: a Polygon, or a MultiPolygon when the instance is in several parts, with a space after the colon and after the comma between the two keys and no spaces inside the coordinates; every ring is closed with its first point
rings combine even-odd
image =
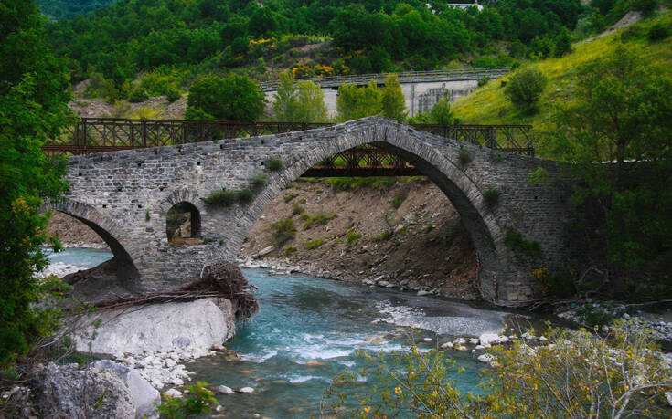
{"type": "MultiPolygon", "coordinates": [[[[516,110],[504,95],[503,82],[507,78],[491,81],[483,88],[458,100],[453,110],[464,123],[504,124],[529,123],[534,125],[536,137],[552,129],[549,121],[553,110],[572,99],[578,68],[595,58],[613,54],[619,45],[634,47],[643,56],[672,64],[672,37],[652,42],[648,31],[661,24],[672,32],[672,12],[663,12],[639,23],[616,30],[609,35],[582,41],[573,46],[573,51],[561,58],[549,58],[529,65],[538,68],[549,79],[539,101],[539,112],[529,116],[516,110]]],[[[672,74],[672,69],[670,69],[672,74]]]]}

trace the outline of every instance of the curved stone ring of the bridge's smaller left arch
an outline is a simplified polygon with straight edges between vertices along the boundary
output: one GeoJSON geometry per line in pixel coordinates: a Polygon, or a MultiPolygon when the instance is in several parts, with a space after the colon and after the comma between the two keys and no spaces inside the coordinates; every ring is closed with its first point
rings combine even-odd
{"type": "Polygon", "coordinates": [[[69,215],[90,227],[110,247],[112,255],[114,255],[115,265],[120,269],[119,275],[128,279],[138,276],[137,267],[135,267],[136,258],[131,253],[133,252],[133,246],[124,239],[126,235],[121,225],[109,217],[101,215],[90,204],[73,200],[62,201],[58,204],[48,204],[45,205],[45,209],[69,215]]]}

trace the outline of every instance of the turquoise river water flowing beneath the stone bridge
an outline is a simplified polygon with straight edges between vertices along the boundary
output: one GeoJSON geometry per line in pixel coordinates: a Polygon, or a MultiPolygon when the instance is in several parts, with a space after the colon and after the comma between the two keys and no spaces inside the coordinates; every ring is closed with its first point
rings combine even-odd
{"type": "MultiPolygon", "coordinates": [[[[53,261],[82,267],[109,257],[92,249],[51,255],[53,261]]],[[[303,275],[271,276],[264,269],[243,273],[259,288],[255,295],[261,310],[239,323],[236,337],[226,343],[229,350],[240,353],[239,359],[216,355],[187,364],[187,370],[196,372],[193,382],[255,390],[217,394],[224,406],[219,417],[318,416],[334,375],[365,364],[371,367],[357,356],[358,350],[389,353],[413,340],[429,351],[456,336],[502,331],[507,317],[496,310],[385,288],[303,275]],[[411,331],[411,326],[421,329],[411,331]]],[[[485,365],[470,351],[451,351],[451,356],[464,368],[457,381],[460,390],[478,393],[479,372],[485,365]]],[[[365,391],[373,383],[360,385],[365,391]]]]}

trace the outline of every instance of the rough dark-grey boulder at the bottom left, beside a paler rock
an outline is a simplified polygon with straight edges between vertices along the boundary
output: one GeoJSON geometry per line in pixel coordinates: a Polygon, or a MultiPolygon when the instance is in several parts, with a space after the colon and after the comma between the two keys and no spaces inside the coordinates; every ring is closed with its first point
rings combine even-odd
{"type": "Polygon", "coordinates": [[[135,417],[133,396],[111,371],[79,370],[77,364],[38,366],[33,377],[34,401],[41,417],[135,417]]]}

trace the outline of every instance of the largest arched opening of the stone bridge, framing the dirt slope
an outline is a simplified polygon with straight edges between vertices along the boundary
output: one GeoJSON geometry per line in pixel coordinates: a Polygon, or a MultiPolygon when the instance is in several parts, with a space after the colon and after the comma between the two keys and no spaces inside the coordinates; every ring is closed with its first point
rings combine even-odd
{"type": "Polygon", "coordinates": [[[483,221],[428,162],[388,143],[332,154],[289,183],[252,226],[240,256],[285,258],[336,278],[481,297],[483,221]],[[450,197],[450,198],[449,198],[450,197]],[[480,220],[480,221],[479,221],[480,220]]]}

